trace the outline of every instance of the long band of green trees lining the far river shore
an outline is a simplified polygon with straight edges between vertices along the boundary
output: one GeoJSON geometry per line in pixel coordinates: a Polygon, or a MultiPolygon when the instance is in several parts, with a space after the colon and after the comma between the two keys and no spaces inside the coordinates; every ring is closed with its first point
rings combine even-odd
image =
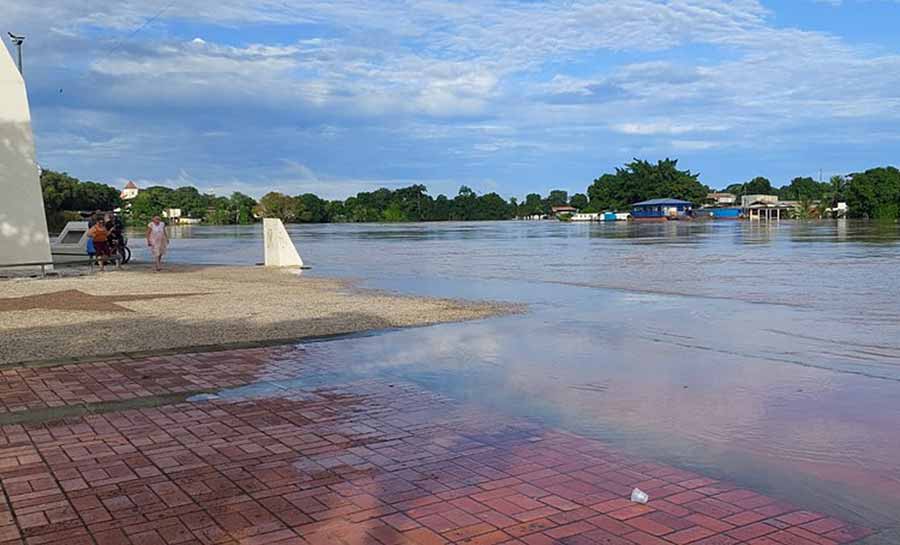
{"type": "MultiPolygon", "coordinates": [[[[250,224],[263,217],[285,223],[362,223],[416,221],[508,220],[548,214],[553,207],[572,206],[582,212],[627,211],[632,203],[653,198],[675,198],[702,204],[715,191],[700,181],[700,175],[678,168],[676,159],[656,163],[635,159],[613,173],[598,177],[584,193],[569,195],[556,189],[547,196],[530,193],[521,201],[505,199],[497,193],[478,195],[462,186],[453,197],[432,197],[427,187],[414,184],[399,189],[381,188],[360,192],[345,200],[325,200],[312,193],[290,196],[266,193],[259,200],[235,192],[228,197],[201,193],[185,186],[143,188],[129,201],[119,190],[97,182],[82,182],[65,172],[41,173],[47,223],[61,229],[67,221],[81,219],[78,211],[122,208],[131,224],[146,223],[166,209],[179,209],[182,217],[207,225],[250,224]]],[[[827,182],[798,177],[775,187],[763,177],[726,186],[722,191],[742,195],[777,195],[798,201],[804,217],[819,217],[822,210],[837,202],[847,202],[849,216],[880,220],[900,218],[900,171],[878,167],[833,176],[827,182]]]]}

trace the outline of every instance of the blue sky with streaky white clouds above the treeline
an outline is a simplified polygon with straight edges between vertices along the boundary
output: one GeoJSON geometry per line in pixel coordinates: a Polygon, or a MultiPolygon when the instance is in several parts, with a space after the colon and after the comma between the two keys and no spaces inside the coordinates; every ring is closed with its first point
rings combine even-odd
{"type": "MultiPolygon", "coordinates": [[[[42,167],[260,196],[897,164],[900,0],[11,0],[42,167]]],[[[6,40],[7,47],[11,46],[6,40]]]]}

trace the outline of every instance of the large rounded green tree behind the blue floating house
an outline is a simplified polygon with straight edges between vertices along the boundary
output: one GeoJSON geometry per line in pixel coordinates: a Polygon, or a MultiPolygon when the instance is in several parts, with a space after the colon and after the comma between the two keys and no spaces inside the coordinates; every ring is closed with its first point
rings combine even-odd
{"type": "Polygon", "coordinates": [[[700,183],[697,174],[677,167],[676,159],[655,165],[635,159],[624,168],[617,168],[615,174],[594,180],[588,188],[591,207],[597,211],[625,210],[636,202],[657,198],[702,202],[709,188],[700,183]]]}

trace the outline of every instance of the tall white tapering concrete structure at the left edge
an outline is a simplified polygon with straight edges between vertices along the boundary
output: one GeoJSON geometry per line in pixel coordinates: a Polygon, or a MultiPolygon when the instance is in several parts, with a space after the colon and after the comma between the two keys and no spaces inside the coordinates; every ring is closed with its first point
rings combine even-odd
{"type": "Polygon", "coordinates": [[[25,82],[0,50],[0,267],[50,263],[25,82]]]}

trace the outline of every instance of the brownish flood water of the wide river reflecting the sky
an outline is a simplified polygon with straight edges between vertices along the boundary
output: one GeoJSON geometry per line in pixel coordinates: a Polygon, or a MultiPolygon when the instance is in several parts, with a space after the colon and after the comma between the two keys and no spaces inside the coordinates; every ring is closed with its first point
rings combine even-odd
{"type": "MultiPolygon", "coordinates": [[[[900,526],[896,225],[289,231],[313,275],[529,305],[523,315],[308,343],[310,357],[538,418],[854,522],[900,526]]],[[[170,258],[254,264],[261,236],[259,226],[184,228],[173,233],[170,258]]]]}

